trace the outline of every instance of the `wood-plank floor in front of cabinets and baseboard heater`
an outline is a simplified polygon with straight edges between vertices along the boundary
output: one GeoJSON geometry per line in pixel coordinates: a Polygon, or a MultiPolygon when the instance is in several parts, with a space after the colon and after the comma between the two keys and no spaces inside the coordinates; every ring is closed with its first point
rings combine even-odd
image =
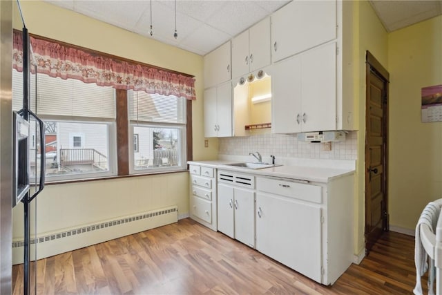
{"type": "MultiPolygon", "coordinates": [[[[21,294],[23,267],[12,272],[21,294]]],[[[37,263],[37,294],[412,294],[415,280],[412,236],[386,233],[323,286],[189,218],[37,263]]]]}

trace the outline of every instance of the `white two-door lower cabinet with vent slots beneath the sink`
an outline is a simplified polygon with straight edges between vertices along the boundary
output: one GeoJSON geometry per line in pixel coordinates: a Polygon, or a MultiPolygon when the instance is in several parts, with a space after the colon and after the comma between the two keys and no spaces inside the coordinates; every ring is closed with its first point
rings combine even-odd
{"type": "Polygon", "coordinates": [[[218,231],[249,247],[255,247],[253,176],[218,171],[218,231]],[[244,178],[247,180],[244,181],[244,178]],[[241,182],[236,182],[236,179],[240,179],[241,182]],[[238,187],[238,185],[246,185],[250,188],[238,187]]]}

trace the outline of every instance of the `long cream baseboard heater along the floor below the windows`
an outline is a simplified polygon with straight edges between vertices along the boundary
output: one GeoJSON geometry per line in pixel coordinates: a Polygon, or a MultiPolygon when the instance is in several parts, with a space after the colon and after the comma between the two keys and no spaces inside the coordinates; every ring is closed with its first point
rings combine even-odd
{"type": "MultiPolygon", "coordinates": [[[[31,245],[36,244],[35,246],[37,246],[37,257],[32,257],[32,260],[88,247],[155,227],[170,225],[177,221],[178,207],[172,206],[90,225],[81,225],[72,229],[42,233],[35,238],[31,237],[31,245]]],[[[12,264],[23,263],[23,245],[23,239],[12,242],[12,264]]],[[[31,256],[35,256],[32,247],[31,256]]]]}

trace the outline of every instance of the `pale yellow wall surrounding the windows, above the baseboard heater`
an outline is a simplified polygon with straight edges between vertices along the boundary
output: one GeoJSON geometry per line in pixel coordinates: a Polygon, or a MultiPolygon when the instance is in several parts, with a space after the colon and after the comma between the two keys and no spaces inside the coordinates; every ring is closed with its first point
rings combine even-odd
{"type": "MultiPolygon", "coordinates": [[[[203,59],[200,55],[41,1],[21,1],[29,32],[194,75],[193,159],[216,158],[218,142],[204,148],[203,59]]],[[[15,14],[17,15],[17,14],[15,14]]],[[[15,23],[19,23],[18,20],[15,23]]],[[[39,195],[39,231],[75,227],[177,204],[189,213],[188,173],[49,185],[39,195]]],[[[16,216],[19,214],[16,214],[16,216]]]]}

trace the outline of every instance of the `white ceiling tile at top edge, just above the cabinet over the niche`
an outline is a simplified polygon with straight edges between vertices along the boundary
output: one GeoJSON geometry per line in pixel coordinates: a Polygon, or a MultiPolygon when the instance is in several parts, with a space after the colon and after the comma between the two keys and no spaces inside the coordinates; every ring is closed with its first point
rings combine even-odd
{"type": "Polygon", "coordinates": [[[229,1],[207,24],[231,36],[246,30],[268,13],[254,1],[229,1]]]}

